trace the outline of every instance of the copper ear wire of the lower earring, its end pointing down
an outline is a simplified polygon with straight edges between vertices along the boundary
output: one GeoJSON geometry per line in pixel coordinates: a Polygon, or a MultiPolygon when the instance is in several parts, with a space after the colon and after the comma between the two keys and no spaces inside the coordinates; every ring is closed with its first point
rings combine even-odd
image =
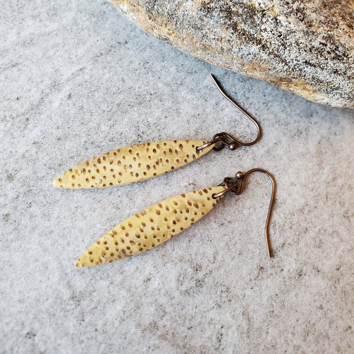
{"type": "Polygon", "coordinates": [[[230,177],[227,177],[224,179],[224,182],[222,184],[220,184],[219,186],[226,186],[228,188],[226,188],[224,191],[213,194],[212,197],[214,199],[219,198],[221,196],[223,196],[224,194],[228,193],[228,192],[232,192],[235,195],[240,195],[243,190],[244,190],[244,182],[245,179],[247,178],[247,176],[252,173],[252,172],[262,172],[264,174],[266,174],[269,179],[272,182],[272,196],[271,196],[271,202],[269,204],[269,209],[268,209],[268,215],[267,215],[267,221],[265,222],[265,228],[264,228],[264,235],[265,235],[265,245],[267,246],[267,253],[268,253],[268,257],[271,258],[271,252],[270,252],[270,246],[269,246],[269,234],[268,234],[268,228],[269,228],[269,223],[271,220],[271,214],[272,214],[272,207],[273,207],[273,203],[274,203],[274,196],[275,196],[275,180],[273,178],[273,176],[268,172],[265,171],[264,169],[261,168],[253,168],[250,169],[248,172],[246,172],[245,174],[243,174],[242,172],[237,172],[236,173],[236,180],[234,183],[232,183],[231,181],[233,180],[230,177]]]}

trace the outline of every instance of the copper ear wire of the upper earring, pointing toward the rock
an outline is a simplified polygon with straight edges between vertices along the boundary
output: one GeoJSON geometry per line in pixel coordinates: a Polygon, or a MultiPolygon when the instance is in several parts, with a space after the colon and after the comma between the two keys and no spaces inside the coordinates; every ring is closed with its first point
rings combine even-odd
{"type": "Polygon", "coordinates": [[[228,95],[226,95],[226,93],[220,87],[220,85],[218,84],[218,82],[216,81],[215,77],[212,74],[210,74],[210,77],[213,80],[214,84],[216,85],[217,89],[220,91],[220,93],[226,99],[228,99],[237,109],[239,109],[248,119],[250,119],[254,123],[254,125],[257,127],[257,137],[251,143],[243,143],[243,142],[240,142],[239,140],[236,140],[235,138],[233,138],[230,134],[228,134],[226,132],[220,132],[218,134],[215,134],[213,136],[213,138],[211,139],[211,141],[205,143],[204,145],[197,146],[196,150],[200,151],[200,150],[202,150],[210,145],[216,144],[218,142],[221,143],[221,145],[218,147],[214,146],[213,150],[215,150],[215,151],[220,151],[220,150],[224,149],[225,146],[228,146],[230,150],[235,150],[237,148],[237,146],[251,146],[251,145],[255,144],[261,137],[261,130],[260,130],[260,126],[257,123],[257,121],[254,118],[252,118],[236,102],[234,102],[228,95]]]}

